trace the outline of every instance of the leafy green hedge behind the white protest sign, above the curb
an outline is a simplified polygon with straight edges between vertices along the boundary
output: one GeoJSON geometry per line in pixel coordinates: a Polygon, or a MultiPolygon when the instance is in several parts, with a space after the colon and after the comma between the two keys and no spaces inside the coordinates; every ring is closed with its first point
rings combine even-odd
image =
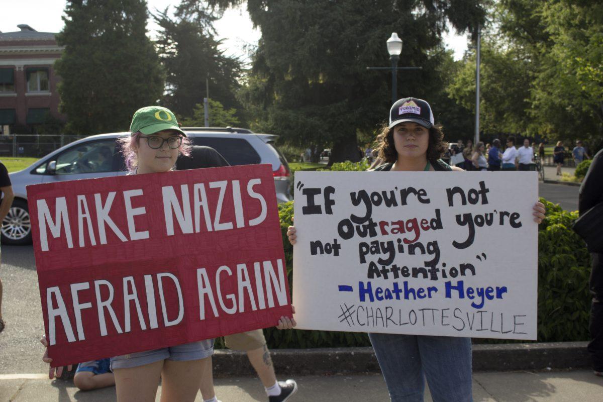
{"type": "MultiPolygon", "coordinates": [[[[356,170],[356,166],[351,165],[348,166],[350,170],[356,170]]],[[[540,201],[546,206],[546,219],[538,228],[538,342],[585,341],[589,339],[592,298],[588,290],[590,255],[582,239],[571,229],[578,213],[564,211],[543,198],[540,201]]],[[[279,216],[289,285],[292,286],[293,247],[286,231],[293,222],[293,202],[280,204],[279,216]]],[[[265,333],[271,348],[370,345],[365,333],[279,331],[276,328],[268,328],[265,333]]],[[[478,342],[516,341],[480,339],[478,342]]]]}

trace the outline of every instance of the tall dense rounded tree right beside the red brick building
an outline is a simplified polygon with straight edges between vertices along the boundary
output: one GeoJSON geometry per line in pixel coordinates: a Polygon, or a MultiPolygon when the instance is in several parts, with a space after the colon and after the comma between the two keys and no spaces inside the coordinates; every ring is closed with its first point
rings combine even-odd
{"type": "Polygon", "coordinates": [[[134,111],[157,103],[163,74],[147,16],[144,0],[67,2],[55,69],[68,133],[127,130],[134,111]]]}

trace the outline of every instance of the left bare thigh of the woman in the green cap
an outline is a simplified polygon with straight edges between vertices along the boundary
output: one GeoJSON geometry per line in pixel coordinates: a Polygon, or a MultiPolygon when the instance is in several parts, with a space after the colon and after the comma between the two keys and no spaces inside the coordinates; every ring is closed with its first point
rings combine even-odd
{"type": "Polygon", "coordinates": [[[155,402],[164,360],[133,368],[118,368],[115,391],[118,402],[155,402]]]}

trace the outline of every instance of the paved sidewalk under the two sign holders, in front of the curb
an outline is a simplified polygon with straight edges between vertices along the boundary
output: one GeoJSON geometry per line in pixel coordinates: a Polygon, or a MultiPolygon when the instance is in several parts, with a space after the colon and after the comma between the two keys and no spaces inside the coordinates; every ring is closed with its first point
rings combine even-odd
{"type": "MultiPolygon", "coordinates": [[[[1,377],[0,377],[1,378],[1,377]]],[[[381,375],[308,375],[295,377],[299,390],[291,402],[389,401],[381,375]]],[[[224,402],[267,401],[257,378],[216,378],[216,396],[224,402]]],[[[428,390],[426,394],[428,394],[428,390]]],[[[477,372],[473,374],[475,402],[600,402],[603,378],[591,371],[477,372]]],[[[115,388],[81,392],[71,382],[46,379],[0,379],[0,401],[10,402],[111,402],[115,388]]],[[[159,392],[157,399],[159,401],[159,392]]],[[[201,394],[195,402],[202,402],[201,394]]],[[[426,402],[431,397],[426,395],[426,402]]]]}

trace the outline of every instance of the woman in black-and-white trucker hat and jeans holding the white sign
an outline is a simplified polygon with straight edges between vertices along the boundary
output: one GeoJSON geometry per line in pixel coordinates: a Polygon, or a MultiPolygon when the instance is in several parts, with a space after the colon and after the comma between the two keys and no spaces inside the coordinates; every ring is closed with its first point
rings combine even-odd
{"type": "MultiPolygon", "coordinates": [[[[384,124],[377,136],[378,157],[383,164],[374,171],[463,171],[440,159],[447,144],[428,102],[418,98],[399,99],[392,105],[389,117],[389,123],[384,124]]],[[[399,180],[403,180],[402,175],[399,180]]],[[[534,221],[540,223],[544,213],[544,205],[536,203],[534,221]]],[[[296,242],[296,233],[295,227],[288,228],[292,244],[296,242]]],[[[391,401],[423,401],[425,378],[434,402],[473,400],[470,338],[390,333],[368,336],[391,401]]]]}

